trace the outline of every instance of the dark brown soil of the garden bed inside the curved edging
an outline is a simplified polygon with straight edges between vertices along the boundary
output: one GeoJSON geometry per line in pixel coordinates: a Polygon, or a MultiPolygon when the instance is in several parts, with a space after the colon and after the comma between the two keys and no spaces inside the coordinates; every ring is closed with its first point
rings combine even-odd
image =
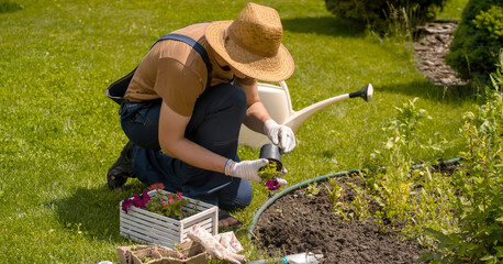
{"type": "MultiPolygon", "coordinates": [[[[343,177],[338,185],[348,190],[347,182],[362,184],[358,183],[361,179],[343,177]]],[[[354,196],[354,191],[343,191],[339,200],[351,201],[354,196]]],[[[369,205],[370,213],[379,209],[369,205]]],[[[271,255],[309,251],[322,253],[323,263],[417,263],[425,250],[401,239],[391,222],[384,224],[385,231],[373,218],[343,220],[331,208],[329,195],[322,186],[316,196],[306,196],[306,188],[300,188],[278,198],[260,215],[254,234],[271,255]]]]}

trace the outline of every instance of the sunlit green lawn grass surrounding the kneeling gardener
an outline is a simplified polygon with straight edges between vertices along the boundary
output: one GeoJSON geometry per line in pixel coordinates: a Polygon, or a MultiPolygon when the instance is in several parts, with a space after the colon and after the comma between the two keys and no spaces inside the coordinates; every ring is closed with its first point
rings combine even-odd
{"type": "MultiPolygon", "coordinates": [[[[18,0],[21,9],[0,13],[2,262],[116,261],[116,246],[133,243],[119,235],[119,201],[144,185],[130,180],[120,194],[107,188],[107,169],[126,138],[105,87],[133,69],[158,36],[193,22],[234,19],[246,2],[18,0]]],[[[410,46],[338,21],[323,0],[258,3],[282,18],[283,43],[295,59],[287,80],[295,110],[367,82],[376,89],[370,103],[338,102],[304,123],[298,147],[283,156],[290,183],[369,166],[394,107],[414,97],[433,117],[421,138],[448,142],[435,157],[457,155],[461,114],[474,102],[429,84],[410,46]]],[[[451,15],[457,11],[446,18],[451,15]]],[[[246,146],[238,152],[243,160],[258,156],[246,146]]],[[[415,153],[417,162],[428,158],[432,153],[415,153]]],[[[254,187],[253,205],[236,215],[245,222],[237,234],[247,254],[256,254],[247,226],[267,199],[262,187],[254,187]]]]}

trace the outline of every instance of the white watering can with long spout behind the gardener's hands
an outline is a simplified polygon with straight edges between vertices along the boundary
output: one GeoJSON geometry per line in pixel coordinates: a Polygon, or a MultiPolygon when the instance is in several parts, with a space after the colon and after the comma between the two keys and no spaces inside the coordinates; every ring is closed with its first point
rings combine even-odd
{"type": "MultiPolygon", "coordinates": [[[[293,133],[297,133],[297,131],[299,131],[302,124],[311,116],[334,102],[357,97],[361,97],[364,100],[369,101],[372,99],[373,95],[372,85],[368,84],[361,90],[332,97],[309,106],[300,111],[293,111],[287,82],[280,81],[279,85],[280,86],[275,86],[259,82],[258,95],[260,97],[260,101],[266,107],[270,117],[277,123],[290,127],[293,133]]],[[[260,147],[267,143],[270,143],[270,141],[266,135],[252,131],[244,124],[242,125],[239,132],[239,144],[248,145],[252,147],[260,147]]]]}

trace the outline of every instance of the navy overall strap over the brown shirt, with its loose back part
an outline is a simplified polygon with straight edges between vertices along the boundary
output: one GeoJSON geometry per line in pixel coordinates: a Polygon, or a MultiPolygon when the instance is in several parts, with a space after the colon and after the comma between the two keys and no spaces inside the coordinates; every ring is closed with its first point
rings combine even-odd
{"type": "MultiPolygon", "coordinates": [[[[192,40],[189,36],[181,35],[181,34],[172,34],[172,33],[163,35],[161,37],[159,37],[159,40],[157,40],[154,43],[154,45],[157,44],[159,41],[165,41],[165,40],[185,42],[189,46],[191,46],[195,52],[199,53],[199,55],[201,56],[202,61],[206,65],[206,70],[208,70],[206,88],[210,87],[211,77],[212,77],[212,74],[213,74],[213,67],[211,66],[210,58],[208,57],[208,53],[204,50],[204,47],[201,44],[199,44],[199,42],[192,40]]],[[[152,47],[154,47],[154,45],[152,45],[152,47]]],[[[150,47],[150,50],[152,50],[152,47],[150,47]]],[[[124,101],[124,95],[125,95],[125,92],[127,90],[127,87],[130,86],[130,82],[133,79],[133,75],[134,75],[134,73],[136,72],[137,68],[138,67],[136,66],[136,68],[133,69],[131,73],[128,73],[124,77],[122,77],[122,78],[115,80],[113,84],[111,84],[107,88],[107,96],[110,99],[114,100],[116,103],[121,105],[124,101]]]]}

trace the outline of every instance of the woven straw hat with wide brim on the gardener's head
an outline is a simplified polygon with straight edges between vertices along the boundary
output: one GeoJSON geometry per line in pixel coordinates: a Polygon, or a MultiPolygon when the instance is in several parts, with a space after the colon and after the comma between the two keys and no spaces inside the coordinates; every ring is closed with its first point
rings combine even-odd
{"type": "Polygon", "coordinates": [[[208,43],[225,62],[262,81],[281,81],[293,74],[282,34],[278,12],[256,3],[248,3],[234,21],[212,22],[205,31],[208,43]]]}

